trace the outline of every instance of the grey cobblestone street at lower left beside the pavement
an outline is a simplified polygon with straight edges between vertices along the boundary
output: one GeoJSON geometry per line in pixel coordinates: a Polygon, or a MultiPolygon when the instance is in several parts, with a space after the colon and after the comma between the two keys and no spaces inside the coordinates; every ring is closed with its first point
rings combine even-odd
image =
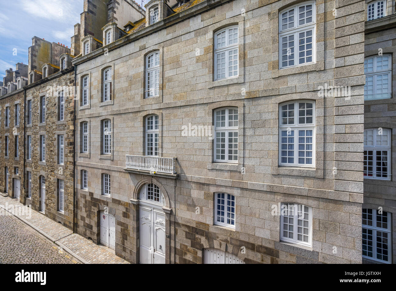
{"type": "Polygon", "coordinates": [[[11,215],[0,215],[0,263],[81,264],[55,243],[11,215]]]}

